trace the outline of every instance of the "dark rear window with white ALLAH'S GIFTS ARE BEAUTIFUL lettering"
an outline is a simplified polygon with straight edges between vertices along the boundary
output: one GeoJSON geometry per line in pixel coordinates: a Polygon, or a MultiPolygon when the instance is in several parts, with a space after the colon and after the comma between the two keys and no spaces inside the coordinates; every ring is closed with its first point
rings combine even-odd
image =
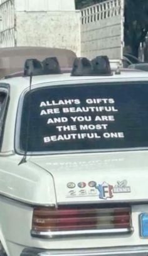
{"type": "Polygon", "coordinates": [[[147,146],[145,83],[40,87],[24,96],[21,150],[62,152],[147,146]]]}

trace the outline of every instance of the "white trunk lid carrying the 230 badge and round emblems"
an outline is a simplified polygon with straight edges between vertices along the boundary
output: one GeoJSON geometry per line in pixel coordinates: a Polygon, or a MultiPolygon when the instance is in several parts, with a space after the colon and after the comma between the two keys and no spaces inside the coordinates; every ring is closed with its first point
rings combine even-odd
{"type": "Polygon", "coordinates": [[[140,187],[140,193],[137,189],[139,184],[144,183],[148,177],[147,159],[148,150],[145,152],[98,152],[31,157],[30,161],[52,175],[55,181],[57,203],[66,204],[102,203],[107,200],[110,202],[147,200],[148,196],[145,197],[147,187],[140,187]],[[98,189],[88,185],[91,181],[95,181],[97,186],[106,182],[119,189],[114,189],[110,198],[103,200],[98,189]],[[122,184],[123,181],[127,182],[122,184]],[[68,187],[69,182],[73,182],[75,187],[68,187]],[[86,186],[80,187],[80,182],[85,182],[86,186]]]}

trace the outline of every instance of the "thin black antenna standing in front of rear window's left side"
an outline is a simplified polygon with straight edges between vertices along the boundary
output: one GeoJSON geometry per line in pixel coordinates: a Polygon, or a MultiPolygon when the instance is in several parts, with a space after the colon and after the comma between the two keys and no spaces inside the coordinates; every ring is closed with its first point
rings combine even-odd
{"type": "MultiPolygon", "coordinates": [[[[30,73],[29,75],[29,92],[31,91],[31,85],[32,85],[32,79],[33,79],[33,72],[30,73]]],[[[28,151],[28,135],[29,135],[29,119],[30,119],[30,110],[31,110],[31,94],[29,94],[29,103],[28,103],[28,120],[27,120],[27,126],[26,126],[26,143],[25,143],[25,150],[24,150],[24,155],[21,161],[19,162],[18,165],[24,164],[27,162],[27,151],[28,151]]]]}

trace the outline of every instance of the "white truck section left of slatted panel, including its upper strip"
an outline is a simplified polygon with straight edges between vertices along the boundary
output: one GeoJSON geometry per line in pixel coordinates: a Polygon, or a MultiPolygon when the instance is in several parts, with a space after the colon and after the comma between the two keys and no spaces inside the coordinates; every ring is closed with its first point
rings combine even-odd
{"type": "Polygon", "coordinates": [[[0,0],[0,16],[0,47],[58,47],[80,55],[75,0],[0,0]]]}

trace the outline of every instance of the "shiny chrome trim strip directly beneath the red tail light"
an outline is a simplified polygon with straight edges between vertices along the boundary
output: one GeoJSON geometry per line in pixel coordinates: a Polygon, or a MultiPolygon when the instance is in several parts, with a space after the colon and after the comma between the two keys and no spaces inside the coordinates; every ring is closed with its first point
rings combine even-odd
{"type": "Polygon", "coordinates": [[[112,228],[107,230],[75,230],[75,231],[35,231],[31,230],[32,237],[38,238],[57,238],[57,237],[75,237],[82,235],[119,235],[119,234],[129,234],[134,231],[134,228],[112,228]]]}

